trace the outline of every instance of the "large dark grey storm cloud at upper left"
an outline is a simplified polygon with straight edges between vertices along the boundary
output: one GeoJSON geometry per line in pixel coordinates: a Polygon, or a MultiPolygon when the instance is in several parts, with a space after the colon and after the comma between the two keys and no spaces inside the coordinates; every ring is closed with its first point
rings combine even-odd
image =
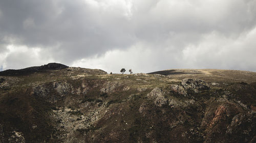
{"type": "Polygon", "coordinates": [[[15,44],[51,47],[70,60],[126,47],[134,39],[118,11],[104,13],[84,1],[1,1],[0,9],[2,36],[15,44]]]}

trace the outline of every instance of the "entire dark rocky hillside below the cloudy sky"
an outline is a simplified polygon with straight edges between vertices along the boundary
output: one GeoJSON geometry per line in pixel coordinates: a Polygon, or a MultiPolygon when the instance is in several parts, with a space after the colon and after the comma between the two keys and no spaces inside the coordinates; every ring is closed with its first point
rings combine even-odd
{"type": "Polygon", "coordinates": [[[255,72],[53,65],[0,72],[0,142],[256,142],[255,72]]]}

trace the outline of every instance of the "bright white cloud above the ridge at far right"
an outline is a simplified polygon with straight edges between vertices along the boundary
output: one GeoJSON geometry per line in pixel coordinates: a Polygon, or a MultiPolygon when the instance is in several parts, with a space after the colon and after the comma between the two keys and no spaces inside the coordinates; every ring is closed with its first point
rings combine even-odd
{"type": "Polygon", "coordinates": [[[255,71],[256,27],[238,38],[212,32],[200,44],[189,45],[183,52],[188,68],[239,69],[255,71]]]}

